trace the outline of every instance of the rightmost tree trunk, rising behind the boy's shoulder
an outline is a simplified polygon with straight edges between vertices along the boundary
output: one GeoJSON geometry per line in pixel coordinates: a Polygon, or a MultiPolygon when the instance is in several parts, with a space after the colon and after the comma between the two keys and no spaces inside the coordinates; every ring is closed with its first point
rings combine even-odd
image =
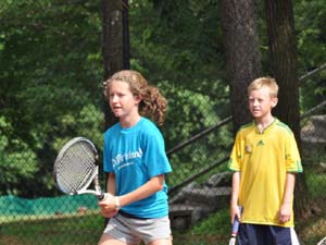
{"type": "MultiPolygon", "coordinates": [[[[299,79],[297,47],[291,0],[265,0],[271,52],[271,73],[279,86],[275,115],[287,123],[296,135],[301,151],[299,79]]],[[[294,209],[302,216],[308,210],[304,174],[299,174],[294,192],[294,209]]]]}

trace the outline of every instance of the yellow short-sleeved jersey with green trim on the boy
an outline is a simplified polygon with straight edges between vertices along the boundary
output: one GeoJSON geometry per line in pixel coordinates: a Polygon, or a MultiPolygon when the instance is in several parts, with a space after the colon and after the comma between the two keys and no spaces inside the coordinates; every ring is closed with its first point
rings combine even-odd
{"type": "Polygon", "coordinates": [[[243,223],[293,226],[291,220],[279,224],[286,174],[302,172],[301,159],[292,131],[279,120],[262,133],[252,122],[237,133],[228,168],[239,171],[239,205],[243,223]]]}

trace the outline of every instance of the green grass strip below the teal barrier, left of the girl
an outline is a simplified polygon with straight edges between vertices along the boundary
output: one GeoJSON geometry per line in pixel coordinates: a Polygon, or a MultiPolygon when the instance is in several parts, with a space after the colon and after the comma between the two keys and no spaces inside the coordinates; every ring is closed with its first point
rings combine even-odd
{"type": "Polygon", "coordinates": [[[27,217],[1,228],[5,236],[0,236],[0,244],[97,244],[102,228],[103,218],[99,213],[36,220],[27,217]]]}

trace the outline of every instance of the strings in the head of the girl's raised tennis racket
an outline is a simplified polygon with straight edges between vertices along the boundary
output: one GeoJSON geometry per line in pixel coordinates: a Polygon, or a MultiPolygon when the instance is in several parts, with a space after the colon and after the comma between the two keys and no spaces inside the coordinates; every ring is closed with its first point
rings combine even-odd
{"type": "Polygon", "coordinates": [[[58,185],[65,193],[87,187],[96,174],[96,155],[87,143],[72,145],[58,161],[58,185]]]}

